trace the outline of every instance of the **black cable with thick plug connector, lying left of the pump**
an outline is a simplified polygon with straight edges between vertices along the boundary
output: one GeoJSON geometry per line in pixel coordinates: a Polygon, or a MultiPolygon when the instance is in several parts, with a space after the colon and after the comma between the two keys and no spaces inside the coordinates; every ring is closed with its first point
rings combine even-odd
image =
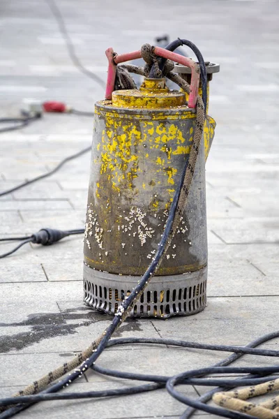
{"type": "MultiPolygon", "coordinates": [[[[24,237],[24,242],[20,243],[17,247],[15,247],[15,249],[12,249],[11,251],[8,251],[8,253],[3,253],[0,255],[0,259],[1,258],[6,258],[6,256],[9,256],[13,253],[15,253],[15,251],[17,251],[17,249],[20,249],[20,247],[22,247],[24,244],[27,243],[36,243],[36,244],[43,244],[43,246],[49,246],[50,244],[59,242],[59,240],[63,239],[64,237],[68,237],[70,235],[75,235],[75,234],[83,234],[84,233],[84,228],[79,228],[76,230],[54,230],[54,228],[41,228],[41,230],[38,231],[38,233],[34,233],[29,237],[24,237]]],[[[17,238],[13,238],[13,237],[8,237],[8,238],[4,238],[4,239],[0,239],[1,241],[4,240],[23,240],[23,237],[17,237],[17,238]]]]}

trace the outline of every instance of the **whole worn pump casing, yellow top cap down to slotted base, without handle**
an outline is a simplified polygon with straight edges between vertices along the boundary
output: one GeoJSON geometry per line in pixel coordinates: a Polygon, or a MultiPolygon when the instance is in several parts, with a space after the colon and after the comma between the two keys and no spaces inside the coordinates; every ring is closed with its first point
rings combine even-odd
{"type": "MultiPolygon", "coordinates": [[[[195,110],[165,79],[96,103],[84,238],[84,300],[114,314],[158,248],[195,130],[195,110]]],[[[156,277],[131,316],[189,315],[206,305],[208,117],[188,205],[156,277]]]]}

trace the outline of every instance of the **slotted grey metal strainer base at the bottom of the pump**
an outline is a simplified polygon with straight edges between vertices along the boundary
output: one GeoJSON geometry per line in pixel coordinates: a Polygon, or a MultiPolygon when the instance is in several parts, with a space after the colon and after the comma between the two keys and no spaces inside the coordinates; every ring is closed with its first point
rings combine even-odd
{"type": "MultiPolygon", "coordinates": [[[[114,314],[141,277],[109,274],[84,265],[84,301],[114,314]]],[[[190,316],[206,307],[207,267],[182,275],[153,277],[131,317],[190,316]]]]}

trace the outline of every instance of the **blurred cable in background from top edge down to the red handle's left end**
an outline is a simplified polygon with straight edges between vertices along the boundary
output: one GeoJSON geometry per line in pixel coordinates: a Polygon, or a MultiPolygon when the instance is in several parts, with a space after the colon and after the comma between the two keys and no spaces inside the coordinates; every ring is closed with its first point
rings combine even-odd
{"type": "Polygon", "coordinates": [[[59,26],[59,30],[61,31],[61,34],[64,38],[64,41],[66,43],[66,47],[68,50],[68,54],[70,56],[70,59],[73,61],[74,66],[84,75],[94,80],[94,82],[97,82],[100,84],[101,87],[106,87],[105,82],[95,73],[92,71],[89,71],[87,68],[85,68],[82,63],[80,62],[80,59],[77,57],[77,54],[75,54],[75,47],[73,45],[73,42],[68,34],[68,31],[66,29],[66,24],[63,20],[63,16],[61,14],[61,11],[59,10],[58,6],[56,5],[54,0],[45,0],[47,5],[50,7],[50,10],[52,11],[52,14],[54,15],[56,22],[59,26]]]}

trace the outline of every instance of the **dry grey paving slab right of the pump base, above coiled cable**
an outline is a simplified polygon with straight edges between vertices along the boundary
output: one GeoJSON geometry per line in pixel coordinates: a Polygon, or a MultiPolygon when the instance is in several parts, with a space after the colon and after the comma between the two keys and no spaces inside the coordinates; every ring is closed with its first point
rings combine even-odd
{"type": "Polygon", "coordinates": [[[206,309],[195,316],[153,324],[162,337],[242,345],[276,330],[277,304],[278,296],[209,297],[206,309]]]}

